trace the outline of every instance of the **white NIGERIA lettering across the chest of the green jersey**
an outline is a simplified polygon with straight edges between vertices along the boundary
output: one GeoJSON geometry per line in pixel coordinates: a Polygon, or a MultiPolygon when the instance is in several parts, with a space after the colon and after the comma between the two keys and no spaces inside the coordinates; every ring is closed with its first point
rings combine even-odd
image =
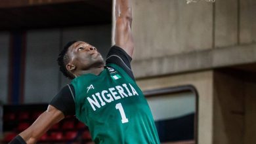
{"type": "MultiPolygon", "coordinates": [[[[94,88],[95,89],[95,88],[94,88]]],[[[138,92],[133,88],[133,86],[128,84],[120,84],[107,90],[102,90],[101,92],[96,92],[91,96],[87,97],[93,111],[100,109],[100,107],[116,101],[121,98],[128,98],[129,96],[139,96],[138,92]]]]}

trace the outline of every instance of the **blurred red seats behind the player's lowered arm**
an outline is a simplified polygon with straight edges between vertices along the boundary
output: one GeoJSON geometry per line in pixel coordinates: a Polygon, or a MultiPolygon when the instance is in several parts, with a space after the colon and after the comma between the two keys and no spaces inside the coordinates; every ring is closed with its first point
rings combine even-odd
{"type": "MultiPolygon", "coordinates": [[[[5,105],[3,111],[3,139],[0,143],[8,143],[17,134],[26,130],[35,119],[45,111],[47,104],[39,105],[5,105]]],[[[66,117],[51,127],[39,139],[40,143],[88,143],[91,135],[85,124],[79,122],[74,116],[66,117]]]]}

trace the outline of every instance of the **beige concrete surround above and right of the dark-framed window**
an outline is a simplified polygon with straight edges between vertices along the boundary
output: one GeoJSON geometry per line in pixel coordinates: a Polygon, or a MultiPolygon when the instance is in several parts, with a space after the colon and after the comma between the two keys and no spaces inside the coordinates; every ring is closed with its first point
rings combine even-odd
{"type": "Polygon", "coordinates": [[[137,80],[142,90],[192,84],[198,90],[198,144],[213,144],[213,72],[202,71],[137,80]]]}

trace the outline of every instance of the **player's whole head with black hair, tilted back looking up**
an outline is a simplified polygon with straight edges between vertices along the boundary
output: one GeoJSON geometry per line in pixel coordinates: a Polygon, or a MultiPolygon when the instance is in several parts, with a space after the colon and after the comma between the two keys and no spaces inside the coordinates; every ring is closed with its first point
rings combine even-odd
{"type": "Polygon", "coordinates": [[[69,79],[75,78],[75,73],[91,68],[102,67],[103,58],[95,46],[83,41],[70,41],[58,55],[58,65],[63,75],[69,79]]]}

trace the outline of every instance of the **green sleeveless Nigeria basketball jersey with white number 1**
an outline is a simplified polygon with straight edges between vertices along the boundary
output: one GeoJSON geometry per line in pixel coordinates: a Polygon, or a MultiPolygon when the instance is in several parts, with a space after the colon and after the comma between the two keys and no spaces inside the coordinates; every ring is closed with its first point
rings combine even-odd
{"type": "Polygon", "coordinates": [[[135,81],[119,66],[72,81],[75,115],[95,143],[160,143],[148,103],[135,81]]]}

